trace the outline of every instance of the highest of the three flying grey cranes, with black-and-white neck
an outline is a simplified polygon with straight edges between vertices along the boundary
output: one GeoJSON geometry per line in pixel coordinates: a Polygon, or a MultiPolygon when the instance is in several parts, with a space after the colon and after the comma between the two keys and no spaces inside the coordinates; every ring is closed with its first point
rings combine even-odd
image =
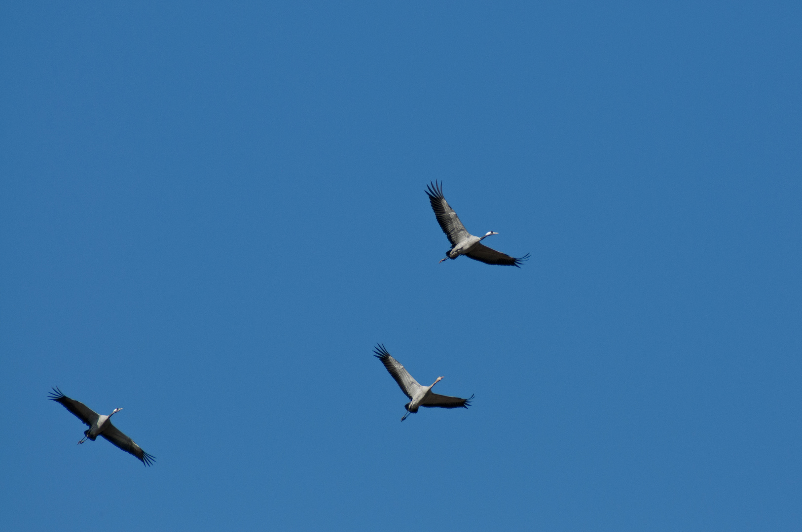
{"type": "MultiPolygon", "coordinates": [[[[448,236],[452,248],[446,252],[446,259],[456,259],[460,255],[467,256],[469,259],[484,262],[484,264],[500,264],[502,266],[516,266],[520,268],[522,261],[529,259],[529,253],[516,259],[495,249],[488,248],[481,241],[488,236],[498,235],[497,232],[488,231],[484,236],[473,236],[456,216],[456,212],[443,197],[443,183],[429,183],[426,187],[426,194],[429,196],[431,208],[437,216],[437,223],[448,236]]],[[[439,263],[438,263],[439,264],[439,263]]]]}

